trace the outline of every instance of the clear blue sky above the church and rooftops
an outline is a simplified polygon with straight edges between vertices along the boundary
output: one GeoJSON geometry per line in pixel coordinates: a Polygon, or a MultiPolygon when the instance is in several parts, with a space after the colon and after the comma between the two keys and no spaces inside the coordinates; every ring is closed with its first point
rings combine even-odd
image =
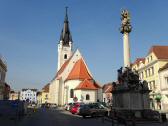
{"type": "Polygon", "coordinates": [[[0,0],[0,54],[14,90],[41,89],[57,70],[57,44],[68,6],[73,47],[94,79],[115,81],[123,66],[121,10],[131,14],[131,62],[168,45],[167,0],[0,0]]]}

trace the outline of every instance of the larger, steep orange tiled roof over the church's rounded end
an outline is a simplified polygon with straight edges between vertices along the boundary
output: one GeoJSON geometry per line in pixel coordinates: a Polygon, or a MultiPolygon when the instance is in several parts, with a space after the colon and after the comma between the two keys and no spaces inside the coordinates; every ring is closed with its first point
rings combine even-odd
{"type": "Polygon", "coordinates": [[[75,80],[75,79],[80,80],[92,79],[86,67],[86,64],[84,63],[82,58],[75,63],[66,80],[75,80]]]}

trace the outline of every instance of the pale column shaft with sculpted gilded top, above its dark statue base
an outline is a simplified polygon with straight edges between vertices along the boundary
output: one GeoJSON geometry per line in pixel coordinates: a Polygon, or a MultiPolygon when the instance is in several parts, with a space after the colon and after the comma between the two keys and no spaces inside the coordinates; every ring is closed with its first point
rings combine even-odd
{"type": "Polygon", "coordinates": [[[121,12],[121,21],[120,32],[123,34],[124,67],[130,67],[129,33],[132,30],[132,26],[130,23],[130,15],[127,10],[121,12]]]}

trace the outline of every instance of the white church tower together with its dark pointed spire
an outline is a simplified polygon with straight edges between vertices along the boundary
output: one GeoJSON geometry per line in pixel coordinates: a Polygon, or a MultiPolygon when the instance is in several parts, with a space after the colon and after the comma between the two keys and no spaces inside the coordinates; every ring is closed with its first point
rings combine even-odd
{"type": "Polygon", "coordinates": [[[65,12],[64,26],[61,31],[60,41],[58,43],[58,67],[57,71],[72,55],[72,36],[69,29],[67,7],[65,12]]]}

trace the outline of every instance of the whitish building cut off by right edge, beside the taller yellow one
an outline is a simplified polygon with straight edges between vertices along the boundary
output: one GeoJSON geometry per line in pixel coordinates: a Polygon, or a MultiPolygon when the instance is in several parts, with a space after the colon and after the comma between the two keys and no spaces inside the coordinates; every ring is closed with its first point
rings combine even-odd
{"type": "Polygon", "coordinates": [[[168,111],[168,63],[159,69],[161,109],[168,111]]]}

